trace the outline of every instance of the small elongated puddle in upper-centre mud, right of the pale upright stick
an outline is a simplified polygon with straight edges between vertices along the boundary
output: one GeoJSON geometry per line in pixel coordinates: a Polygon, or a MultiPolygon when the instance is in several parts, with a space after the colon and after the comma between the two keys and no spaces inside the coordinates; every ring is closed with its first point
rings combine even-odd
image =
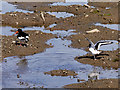
{"type": "Polygon", "coordinates": [[[71,17],[74,16],[72,13],[66,13],[66,12],[47,12],[50,15],[55,15],[57,18],[66,18],[66,17],[71,17]]]}

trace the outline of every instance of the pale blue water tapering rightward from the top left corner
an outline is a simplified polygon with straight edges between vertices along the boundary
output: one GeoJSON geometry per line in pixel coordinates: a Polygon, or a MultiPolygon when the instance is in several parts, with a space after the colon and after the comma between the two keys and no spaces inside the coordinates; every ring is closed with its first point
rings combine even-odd
{"type": "Polygon", "coordinates": [[[1,1],[2,3],[2,11],[0,12],[1,14],[5,14],[6,12],[23,12],[23,13],[33,13],[33,11],[27,11],[27,10],[22,10],[22,9],[17,9],[16,5],[10,4],[6,1],[1,1]]]}

